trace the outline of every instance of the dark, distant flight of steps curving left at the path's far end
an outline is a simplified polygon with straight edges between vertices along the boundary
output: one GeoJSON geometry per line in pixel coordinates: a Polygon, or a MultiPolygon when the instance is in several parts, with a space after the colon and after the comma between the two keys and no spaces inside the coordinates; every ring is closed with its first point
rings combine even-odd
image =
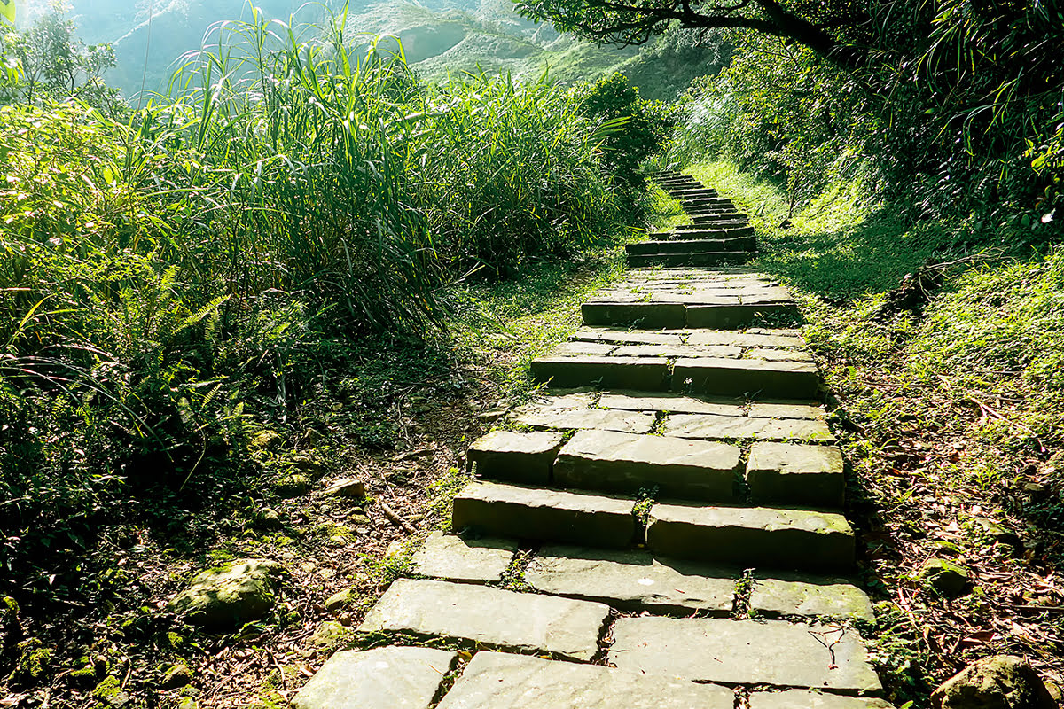
{"type": "Polygon", "coordinates": [[[679,200],[693,223],[651,232],[646,241],[628,244],[630,266],[726,266],[757,253],[753,227],[731,200],[678,172],[661,172],[654,182],[679,200]]]}

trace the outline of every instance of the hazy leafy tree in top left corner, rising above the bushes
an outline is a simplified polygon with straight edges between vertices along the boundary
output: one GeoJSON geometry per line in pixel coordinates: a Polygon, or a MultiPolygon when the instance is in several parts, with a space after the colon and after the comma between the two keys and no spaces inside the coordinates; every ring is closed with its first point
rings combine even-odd
{"type": "Polygon", "coordinates": [[[103,82],[115,66],[111,45],[85,45],[73,22],[53,5],[29,30],[3,36],[0,101],[40,104],[78,99],[97,108],[121,105],[118,90],[103,82]]]}

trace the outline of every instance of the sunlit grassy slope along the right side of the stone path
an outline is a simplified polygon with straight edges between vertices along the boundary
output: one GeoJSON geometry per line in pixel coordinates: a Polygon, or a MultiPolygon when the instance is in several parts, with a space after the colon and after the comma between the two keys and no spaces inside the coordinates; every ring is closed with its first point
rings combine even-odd
{"type": "Polygon", "coordinates": [[[804,306],[837,400],[892,698],[927,706],[937,681],[995,652],[1060,682],[1064,614],[1045,608],[1064,601],[1064,251],[968,256],[926,306],[884,310],[907,273],[954,260],[964,224],[902,224],[836,186],[780,229],[774,185],[727,163],[688,172],[753,215],[755,266],[804,306]],[[949,602],[925,588],[931,557],[968,567],[972,592],[949,602]]]}

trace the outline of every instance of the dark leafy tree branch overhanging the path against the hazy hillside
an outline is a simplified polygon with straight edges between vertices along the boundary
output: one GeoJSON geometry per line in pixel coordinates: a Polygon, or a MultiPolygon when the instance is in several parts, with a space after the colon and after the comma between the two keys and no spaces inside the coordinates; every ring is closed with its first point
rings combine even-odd
{"type": "Polygon", "coordinates": [[[518,12],[601,44],[639,45],[670,24],[696,30],[739,29],[792,39],[826,60],[857,70],[868,52],[843,33],[869,21],[851,0],[518,0],[518,12]]]}

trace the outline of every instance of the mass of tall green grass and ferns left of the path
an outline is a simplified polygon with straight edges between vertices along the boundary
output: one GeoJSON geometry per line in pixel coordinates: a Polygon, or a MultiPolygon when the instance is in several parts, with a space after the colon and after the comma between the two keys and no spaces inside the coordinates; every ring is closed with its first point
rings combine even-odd
{"type": "Polygon", "coordinates": [[[128,115],[0,108],[0,557],[34,612],[112,597],[86,560],[109,525],[195,539],[188,509],[290,473],[311,429],[388,448],[411,391],[454,390],[455,283],[632,216],[624,126],[583,94],[431,87],[343,14],[313,32],[218,28],[128,115]]]}

